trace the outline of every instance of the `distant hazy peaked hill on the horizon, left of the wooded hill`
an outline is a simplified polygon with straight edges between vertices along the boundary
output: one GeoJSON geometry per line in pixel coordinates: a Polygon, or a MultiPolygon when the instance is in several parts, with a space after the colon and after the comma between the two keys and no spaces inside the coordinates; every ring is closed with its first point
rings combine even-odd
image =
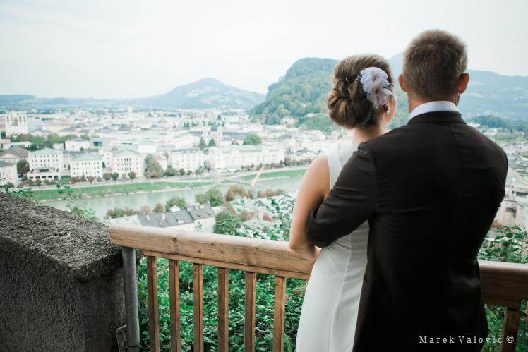
{"type": "Polygon", "coordinates": [[[258,93],[226,85],[215,78],[203,78],[188,85],[176,87],[162,95],[137,99],[136,103],[167,108],[251,109],[263,100],[264,96],[258,93]]]}

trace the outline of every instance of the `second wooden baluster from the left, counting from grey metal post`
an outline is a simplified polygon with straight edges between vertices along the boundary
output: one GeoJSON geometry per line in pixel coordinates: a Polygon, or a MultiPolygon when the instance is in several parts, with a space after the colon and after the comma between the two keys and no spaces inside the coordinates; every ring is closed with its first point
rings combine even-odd
{"type": "Polygon", "coordinates": [[[181,351],[179,262],[169,259],[169,301],[171,312],[171,351],[181,351]]]}

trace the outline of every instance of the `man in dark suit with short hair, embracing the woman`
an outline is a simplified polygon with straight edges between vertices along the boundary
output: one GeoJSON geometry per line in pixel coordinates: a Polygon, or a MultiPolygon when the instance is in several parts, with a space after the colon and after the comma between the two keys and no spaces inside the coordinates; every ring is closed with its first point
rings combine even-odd
{"type": "Polygon", "coordinates": [[[370,224],[356,352],[480,351],[488,335],[476,256],[508,161],[460,116],[466,66],[458,37],[414,38],[398,77],[407,125],[359,145],[311,214],[308,238],[323,247],[370,224]]]}

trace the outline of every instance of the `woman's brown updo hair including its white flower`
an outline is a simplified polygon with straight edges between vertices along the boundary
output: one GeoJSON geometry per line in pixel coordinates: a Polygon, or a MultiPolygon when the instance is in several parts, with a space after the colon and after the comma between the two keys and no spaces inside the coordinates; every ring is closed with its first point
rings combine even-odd
{"type": "Polygon", "coordinates": [[[328,95],[330,118],[340,126],[354,128],[378,123],[380,111],[394,94],[389,62],[379,55],[354,55],[334,68],[328,95]]]}

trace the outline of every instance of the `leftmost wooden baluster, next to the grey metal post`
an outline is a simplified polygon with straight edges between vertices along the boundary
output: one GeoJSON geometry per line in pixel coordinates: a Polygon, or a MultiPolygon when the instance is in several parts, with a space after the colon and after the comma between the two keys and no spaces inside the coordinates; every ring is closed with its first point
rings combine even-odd
{"type": "Polygon", "coordinates": [[[147,257],[148,332],[150,351],[160,351],[160,319],[157,312],[157,264],[156,257],[147,257]]]}

